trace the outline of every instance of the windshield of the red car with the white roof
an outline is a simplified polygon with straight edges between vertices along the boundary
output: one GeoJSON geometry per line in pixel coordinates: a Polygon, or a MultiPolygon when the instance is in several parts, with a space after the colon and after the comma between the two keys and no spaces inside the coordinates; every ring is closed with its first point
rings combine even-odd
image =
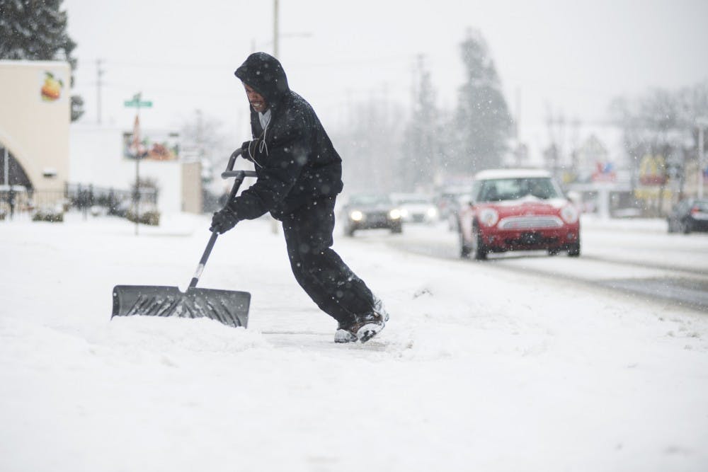
{"type": "Polygon", "coordinates": [[[518,200],[528,195],[542,200],[562,197],[559,188],[549,177],[480,180],[474,187],[475,200],[478,202],[518,200]]]}

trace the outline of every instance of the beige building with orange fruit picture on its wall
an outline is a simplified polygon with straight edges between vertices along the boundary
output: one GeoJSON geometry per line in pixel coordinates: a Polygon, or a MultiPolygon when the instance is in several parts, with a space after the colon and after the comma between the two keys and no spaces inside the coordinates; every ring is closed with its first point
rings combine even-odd
{"type": "Polygon", "coordinates": [[[0,61],[0,182],[63,192],[69,179],[71,69],[66,62],[0,61]]]}

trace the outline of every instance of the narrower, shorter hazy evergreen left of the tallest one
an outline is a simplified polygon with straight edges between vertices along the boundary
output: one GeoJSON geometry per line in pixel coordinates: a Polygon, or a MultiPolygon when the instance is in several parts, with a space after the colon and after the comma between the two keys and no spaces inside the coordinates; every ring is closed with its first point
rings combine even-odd
{"type": "Polygon", "coordinates": [[[403,188],[415,190],[431,186],[442,173],[440,115],[435,104],[436,93],[423,56],[418,57],[413,71],[411,119],[404,130],[400,161],[403,188]]]}

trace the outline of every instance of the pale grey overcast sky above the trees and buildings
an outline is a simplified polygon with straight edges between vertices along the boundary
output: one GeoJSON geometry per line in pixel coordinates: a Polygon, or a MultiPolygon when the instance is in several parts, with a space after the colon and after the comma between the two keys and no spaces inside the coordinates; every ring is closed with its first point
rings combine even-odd
{"type": "MultiPolygon", "coordinates": [[[[246,96],[234,69],[272,52],[273,1],[64,0],[78,43],[76,93],[96,122],[96,59],[103,59],[103,123],[130,128],[122,102],[152,100],[144,127],[178,129],[200,109],[248,138],[246,96]]],[[[708,1],[280,0],[279,58],[293,90],[333,127],[367,94],[402,104],[424,54],[438,105],[454,107],[464,80],[459,42],[486,38],[510,110],[531,146],[549,113],[603,120],[617,95],[708,79],[708,1]]]]}

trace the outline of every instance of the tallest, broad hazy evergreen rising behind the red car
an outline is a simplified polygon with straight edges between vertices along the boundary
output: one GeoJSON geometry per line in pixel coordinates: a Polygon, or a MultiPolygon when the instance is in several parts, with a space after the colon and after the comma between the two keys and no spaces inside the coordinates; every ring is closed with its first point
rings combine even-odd
{"type": "Polygon", "coordinates": [[[451,125],[456,145],[448,160],[450,170],[498,167],[507,149],[512,120],[496,68],[479,32],[470,30],[460,50],[467,81],[459,88],[451,125]]]}

